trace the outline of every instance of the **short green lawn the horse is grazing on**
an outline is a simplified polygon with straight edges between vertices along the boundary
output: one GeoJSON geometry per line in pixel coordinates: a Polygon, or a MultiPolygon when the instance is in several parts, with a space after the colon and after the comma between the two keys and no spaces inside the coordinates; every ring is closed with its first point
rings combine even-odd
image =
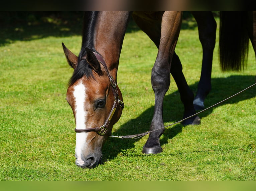
{"type": "MultiPolygon", "coordinates": [[[[255,180],[255,87],[200,114],[201,125],[168,127],[160,139],[160,154],[141,153],[148,135],[140,139],[109,138],[103,147],[102,165],[78,168],[75,120],[65,100],[73,69],[66,62],[61,42],[78,54],[82,39],[72,31],[79,31],[81,26],[73,29],[57,25],[52,32],[45,25],[24,25],[22,30],[9,26],[4,28],[4,37],[1,35],[0,180],[255,180]],[[42,35],[38,35],[40,29],[42,35]]],[[[255,82],[251,45],[243,72],[222,73],[217,50],[218,35],[213,87],[206,107],[255,82]]],[[[183,22],[176,53],[196,93],[202,47],[193,19],[183,22]]],[[[149,130],[154,106],[150,76],[156,54],[153,42],[131,23],[118,69],[125,109],[113,128],[114,135],[149,130]]],[[[182,112],[171,78],[164,99],[165,125],[180,120],[182,112]]]]}

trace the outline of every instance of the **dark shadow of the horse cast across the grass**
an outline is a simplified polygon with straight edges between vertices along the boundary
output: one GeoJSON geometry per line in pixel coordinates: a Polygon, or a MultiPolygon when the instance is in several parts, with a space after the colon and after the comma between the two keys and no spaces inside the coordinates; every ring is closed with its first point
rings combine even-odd
{"type": "MultiPolygon", "coordinates": [[[[212,79],[212,91],[205,100],[205,106],[209,107],[213,104],[234,95],[241,90],[247,88],[255,82],[255,76],[230,76],[228,78],[214,78],[212,79]]],[[[194,94],[197,90],[197,83],[190,86],[194,94]]],[[[246,100],[256,95],[256,88],[253,87],[240,95],[233,97],[230,100],[222,103],[237,103],[242,100],[246,100]]],[[[217,105],[218,107],[220,105],[217,105]]],[[[214,108],[206,110],[200,113],[200,117],[207,117],[212,113],[214,108]]],[[[140,116],[129,120],[127,123],[123,124],[119,129],[113,132],[113,135],[132,135],[138,133],[144,133],[149,131],[151,119],[153,116],[154,107],[150,107],[145,110],[140,116]]],[[[123,111],[125,112],[125,110],[123,111]]],[[[178,91],[166,95],[164,98],[164,111],[163,111],[163,121],[179,121],[183,116],[183,105],[179,98],[178,91]],[[174,104],[175,103],[175,104],[174,104]]],[[[203,120],[203,119],[202,119],[203,120]]],[[[159,127],[160,128],[160,127],[159,127]]],[[[165,128],[163,138],[160,138],[160,143],[168,143],[168,140],[175,137],[177,134],[182,132],[183,125],[178,123],[174,126],[165,128]]],[[[195,126],[196,128],[196,126],[195,126]]],[[[109,138],[103,147],[103,156],[108,159],[115,158],[118,153],[123,152],[127,149],[134,148],[134,143],[139,139],[120,139],[120,138],[109,138]]],[[[142,150],[142,148],[141,148],[142,150]]],[[[104,160],[104,159],[103,159],[104,160]]]]}

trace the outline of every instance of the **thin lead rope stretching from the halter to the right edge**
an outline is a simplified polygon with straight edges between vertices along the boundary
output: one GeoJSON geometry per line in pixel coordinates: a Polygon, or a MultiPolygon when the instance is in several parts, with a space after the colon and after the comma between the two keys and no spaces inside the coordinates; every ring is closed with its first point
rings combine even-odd
{"type": "MultiPolygon", "coordinates": [[[[224,99],[224,100],[222,100],[222,101],[220,101],[220,102],[218,102],[218,103],[216,103],[216,104],[214,104],[214,105],[212,105],[212,106],[210,106],[210,107],[208,107],[208,108],[206,108],[206,109],[204,109],[204,110],[202,110],[202,111],[199,111],[198,113],[196,113],[196,114],[194,114],[194,115],[191,115],[191,116],[189,116],[189,117],[186,117],[186,118],[184,118],[184,119],[182,119],[182,120],[180,120],[180,121],[177,121],[177,122],[175,122],[175,123],[169,124],[169,125],[167,125],[167,126],[161,127],[161,128],[159,128],[159,129],[163,129],[163,128],[165,128],[165,127],[169,127],[169,126],[174,125],[174,124],[176,124],[176,123],[180,123],[180,122],[182,122],[182,121],[184,121],[184,120],[186,120],[186,119],[189,119],[189,118],[191,118],[191,117],[194,117],[194,116],[198,115],[199,113],[202,113],[202,112],[204,112],[204,111],[206,111],[206,110],[208,110],[208,109],[210,109],[210,108],[212,108],[212,107],[215,107],[216,105],[219,105],[219,104],[223,103],[224,101],[227,101],[228,99],[230,99],[230,98],[232,98],[232,97],[234,97],[234,96],[236,96],[236,95],[238,95],[238,94],[240,94],[240,93],[242,93],[242,92],[248,90],[249,88],[252,88],[252,87],[255,86],[255,85],[256,85],[256,83],[253,84],[253,85],[251,85],[251,86],[249,86],[248,88],[246,88],[246,89],[244,89],[244,90],[242,90],[242,91],[236,93],[235,95],[232,95],[232,96],[230,96],[230,97],[228,97],[228,98],[226,98],[226,99],[224,99]]],[[[148,133],[157,131],[157,130],[159,130],[159,129],[155,129],[155,130],[152,130],[152,131],[147,131],[147,132],[145,132],[145,133],[135,134],[135,135],[126,135],[126,136],[113,136],[113,135],[111,135],[110,137],[122,138],[122,139],[123,139],[123,138],[138,139],[138,138],[140,138],[140,137],[143,137],[143,136],[147,135],[148,133]]]]}

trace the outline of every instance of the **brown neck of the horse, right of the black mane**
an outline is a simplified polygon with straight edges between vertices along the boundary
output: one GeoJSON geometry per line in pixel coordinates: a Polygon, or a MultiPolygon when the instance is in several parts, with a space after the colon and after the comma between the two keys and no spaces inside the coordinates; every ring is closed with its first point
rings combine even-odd
{"type": "Polygon", "coordinates": [[[129,11],[100,11],[95,26],[95,50],[103,56],[115,80],[129,15],[129,11]]]}

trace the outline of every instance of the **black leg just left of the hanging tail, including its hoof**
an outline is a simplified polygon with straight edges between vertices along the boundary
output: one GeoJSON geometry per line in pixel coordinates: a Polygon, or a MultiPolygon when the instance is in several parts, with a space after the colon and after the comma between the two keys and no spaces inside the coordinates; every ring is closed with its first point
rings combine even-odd
{"type": "Polygon", "coordinates": [[[217,24],[211,11],[191,11],[191,13],[197,21],[199,40],[203,48],[201,77],[194,99],[195,108],[201,110],[205,108],[205,98],[212,89],[211,75],[217,24]]]}

